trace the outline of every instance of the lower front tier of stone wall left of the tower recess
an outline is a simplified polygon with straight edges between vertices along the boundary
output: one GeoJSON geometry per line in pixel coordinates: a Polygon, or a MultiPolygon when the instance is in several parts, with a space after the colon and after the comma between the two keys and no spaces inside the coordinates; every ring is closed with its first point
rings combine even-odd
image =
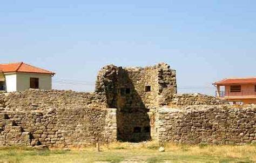
{"type": "Polygon", "coordinates": [[[116,110],[1,112],[0,145],[83,147],[116,141],[116,110]]]}

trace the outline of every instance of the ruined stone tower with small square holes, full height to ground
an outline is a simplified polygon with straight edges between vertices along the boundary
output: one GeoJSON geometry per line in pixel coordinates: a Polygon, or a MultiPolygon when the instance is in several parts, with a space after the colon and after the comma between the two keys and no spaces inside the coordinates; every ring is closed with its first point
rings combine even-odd
{"type": "Polygon", "coordinates": [[[156,108],[177,93],[176,71],[165,63],[150,67],[107,65],[98,73],[96,93],[117,108],[117,137],[144,141],[155,135],[156,108]]]}

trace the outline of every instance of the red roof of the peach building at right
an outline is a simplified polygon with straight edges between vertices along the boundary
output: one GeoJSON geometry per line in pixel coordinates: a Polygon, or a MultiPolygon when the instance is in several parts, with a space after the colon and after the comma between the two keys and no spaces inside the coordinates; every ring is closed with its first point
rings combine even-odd
{"type": "Polygon", "coordinates": [[[214,83],[214,85],[228,85],[228,84],[256,84],[256,77],[254,78],[227,78],[214,83]]]}

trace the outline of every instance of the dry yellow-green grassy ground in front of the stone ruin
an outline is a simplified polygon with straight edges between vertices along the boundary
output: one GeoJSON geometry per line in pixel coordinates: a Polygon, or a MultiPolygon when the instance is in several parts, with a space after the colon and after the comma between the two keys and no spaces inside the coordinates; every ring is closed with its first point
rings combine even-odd
{"type": "Polygon", "coordinates": [[[0,162],[256,162],[255,145],[174,145],[158,152],[156,142],[118,142],[102,146],[102,152],[80,150],[35,151],[26,147],[0,148],[0,162]]]}

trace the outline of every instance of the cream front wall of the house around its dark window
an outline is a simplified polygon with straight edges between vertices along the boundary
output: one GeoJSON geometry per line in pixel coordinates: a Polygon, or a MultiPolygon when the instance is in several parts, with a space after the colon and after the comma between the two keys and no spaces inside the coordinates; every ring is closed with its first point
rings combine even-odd
{"type": "Polygon", "coordinates": [[[17,73],[17,91],[24,91],[30,89],[30,78],[39,78],[39,89],[51,90],[51,74],[17,73]]]}

